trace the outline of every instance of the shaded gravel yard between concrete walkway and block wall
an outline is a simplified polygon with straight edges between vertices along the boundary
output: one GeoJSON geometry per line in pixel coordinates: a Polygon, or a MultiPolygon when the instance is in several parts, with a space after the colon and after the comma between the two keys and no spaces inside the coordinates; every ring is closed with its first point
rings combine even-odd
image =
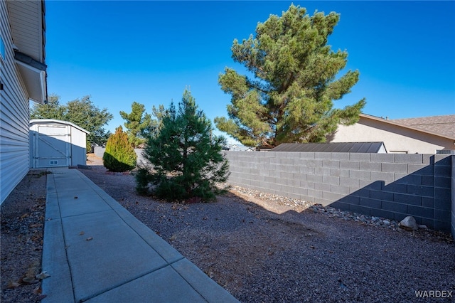
{"type": "MultiPolygon", "coordinates": [[[[83,174],[241,302],[429,302],[419,291],[451,294],[432,302],[455,300],[455,244],[444,233],[240,187],[214,203],[164,203],[137,196],[133,176],[107,174],[89,159],[83,174]]],[[[33,248],[4,247],[4,206],[1,302],[31,302],[38,296],[10,300],[23,286],[6,289],[4,258],[33,248]]]]}

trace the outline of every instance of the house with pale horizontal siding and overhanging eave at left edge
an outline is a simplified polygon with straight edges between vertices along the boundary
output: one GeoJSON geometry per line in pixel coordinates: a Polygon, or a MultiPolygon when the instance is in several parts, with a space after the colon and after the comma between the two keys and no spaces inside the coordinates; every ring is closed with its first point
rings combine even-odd
{"type": "Polygon", "coordinates": [[[28,173],[29,100],[47,100],[44,1],[0,1],[0,203],[28,173]]]}

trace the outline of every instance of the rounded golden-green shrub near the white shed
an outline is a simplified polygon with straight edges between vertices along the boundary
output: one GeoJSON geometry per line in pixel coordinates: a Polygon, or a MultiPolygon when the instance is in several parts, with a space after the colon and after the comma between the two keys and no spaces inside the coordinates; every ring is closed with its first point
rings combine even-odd
{"type": "Polygon", "coordinates": [[[107,139],[106,151],[102,156],[103,165],[109,171],[131,171],[136,166],[137,155],[128,142],[127,133],[122,127],[115,129],[107,139]]]}

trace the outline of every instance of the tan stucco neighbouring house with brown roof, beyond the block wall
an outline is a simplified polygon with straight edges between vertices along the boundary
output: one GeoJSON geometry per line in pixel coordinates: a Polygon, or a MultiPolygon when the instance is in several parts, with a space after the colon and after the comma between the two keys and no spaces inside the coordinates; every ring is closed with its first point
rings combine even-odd
{"type": "Polygon", "coordinates": [[[328,137],[328,142],[373,141],[384,142],[389,153],[455,153],[455,115],[390,120],[360,114],[356,124],[340,125],[328,137]]]}

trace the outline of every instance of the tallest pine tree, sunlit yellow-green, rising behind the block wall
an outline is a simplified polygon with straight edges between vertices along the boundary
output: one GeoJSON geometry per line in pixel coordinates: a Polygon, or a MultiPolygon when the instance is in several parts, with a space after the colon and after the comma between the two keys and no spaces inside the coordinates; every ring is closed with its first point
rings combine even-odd
{"type": "Polygon", "coordinates": [[[221,88],[232,95],[228,116],[215,118],[223,132],[250,147],[283,142],[323,142],[338,124],[354,124],[365,99],[343,109],[333,108],[358,82],[358,70],[345,68],[348,53],[333,52],[328,36],[339,14],[306,14],[291,5],[282,16],[258,23],[256,35],[237,39],[232,58],[252,77],[226,68],[221,88]]]}

